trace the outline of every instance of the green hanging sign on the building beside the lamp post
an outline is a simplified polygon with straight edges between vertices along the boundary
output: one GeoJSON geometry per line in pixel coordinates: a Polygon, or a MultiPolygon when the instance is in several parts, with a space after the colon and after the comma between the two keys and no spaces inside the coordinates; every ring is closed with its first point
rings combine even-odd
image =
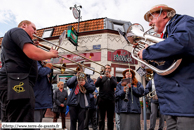
{"type": "Polygon", "coordinates": [[[76,32],[73,26],[67,27],[67,38],[74,46],[78,46],[78,33],[76,32]]]}

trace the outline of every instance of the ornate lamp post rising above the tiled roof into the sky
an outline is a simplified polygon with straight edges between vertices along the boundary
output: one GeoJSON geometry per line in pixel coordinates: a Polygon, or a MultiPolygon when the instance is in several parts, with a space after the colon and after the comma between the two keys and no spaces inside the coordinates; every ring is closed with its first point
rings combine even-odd
{"type": "MultiPolygon", "coordinates": [[[[81,14],[81,9],[82,6],[79,5],[77,6],[76,4],[74,5],[74,7],[70,7],[69,9],[72,10],[73,12],[73,16],[75,19],[78,19],[78,27],[77,27],[77,33],[79,34],[79,22],[80,22],[80,14],[81,14]]],[[[77,46],[76,46],[76,50],[77,50],[77,46]]]]}

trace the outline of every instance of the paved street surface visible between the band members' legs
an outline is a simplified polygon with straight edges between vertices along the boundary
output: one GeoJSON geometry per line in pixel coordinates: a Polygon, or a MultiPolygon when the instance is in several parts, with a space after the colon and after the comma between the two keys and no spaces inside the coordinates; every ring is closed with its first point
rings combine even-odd
{"type": "MultiPolygon", "coordinates": [[[[43,122],[52,122],[52,121],[53,121],[53,119],[51,117],[43,118],[43,122]]],[[[57,122],[61,122],[61,119],[59,118],[57,122]]],[[[147,130],[149,130],[149,126],[150,126],[150,120],[147,120],[147,130]]],[[[158,130],[158,126],[159,126],[159,120],[156,121],[155,130],[158,130]]],[[[69,118],[66,119],[66,127],[68,130],[70,130],[70,119],[69,118]]],[[[42,130],[49,130],[49,129],[42,129],[42,130]]],[[[89,130],[93,130],[93,129],[90,128],[89,130]]],[[[107,128],[105,130],[107,130],[107,128]]],[[[114,130],[116,130],[116,124],[114,126],[114,130]]],[[[141,120],[141,130],[144,130],[144,121],[143,120],[141,120]]],[[[164,129],[163,130],[166,130],[166,122],[164,122],[164,129]]]]}

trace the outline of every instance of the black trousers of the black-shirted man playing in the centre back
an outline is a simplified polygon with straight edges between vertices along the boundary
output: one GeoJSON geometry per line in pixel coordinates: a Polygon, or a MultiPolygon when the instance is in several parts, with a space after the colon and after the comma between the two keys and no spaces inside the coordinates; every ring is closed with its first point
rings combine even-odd
{"type": "Polygon", "coordinates": [[[99,107],[99,130],[104,130],[106,113],[107,113],[108,130],[113,130],[114,129],[113,119],[114,119],[115,101],[105,100],[99,97],[98,107],[99,107]]]}

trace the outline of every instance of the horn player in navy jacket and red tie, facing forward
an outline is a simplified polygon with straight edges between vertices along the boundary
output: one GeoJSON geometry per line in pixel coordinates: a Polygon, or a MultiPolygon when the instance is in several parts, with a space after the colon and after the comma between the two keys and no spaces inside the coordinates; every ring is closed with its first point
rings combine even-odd
{"type": "Polygon", "coordinates": [[[77,75],[67,81],[67,86],[72,89],[68,96],[71,126],[70,130],[76,130],[78,120],[78,130],[84,129],[85,110],[89,107],[89,93],[93,93],[95,86],[89,75],[83,73],[82,67],[77,67],[77,75]]]}

